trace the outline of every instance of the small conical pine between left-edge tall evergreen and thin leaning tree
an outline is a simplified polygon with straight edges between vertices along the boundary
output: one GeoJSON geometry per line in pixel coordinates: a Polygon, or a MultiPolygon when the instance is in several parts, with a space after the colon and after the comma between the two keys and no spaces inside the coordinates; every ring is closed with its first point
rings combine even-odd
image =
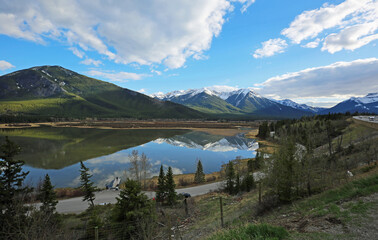
{"type": "Polygon", "coordinates": [[[38,200],[41,201],[42,205],[40,207],[41,211],[46,214],[52,214],[55,211],[55,206],[58,204],[56,200],[56,194],[54,191],[54,187],[51,184],[50,177],[48,174],[45,176],[45,180],[43,181],[42,188],[40,193],[37,197],[38,200]]]}

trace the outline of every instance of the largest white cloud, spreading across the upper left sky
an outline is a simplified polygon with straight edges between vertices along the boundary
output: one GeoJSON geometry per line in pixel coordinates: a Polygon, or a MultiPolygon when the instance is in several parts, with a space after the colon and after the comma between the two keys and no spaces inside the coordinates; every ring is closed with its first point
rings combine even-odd
{"type": "MultiPolygon", "coordinates": [[[[254,1],[238,2],[245,11],[254,1]]],[[[187,58],[203,56],[210,48],[233,4],[234,0],[2,1],[0,34],[40,43],[59,39],[117,63],[179,68],[187,58]]]]}

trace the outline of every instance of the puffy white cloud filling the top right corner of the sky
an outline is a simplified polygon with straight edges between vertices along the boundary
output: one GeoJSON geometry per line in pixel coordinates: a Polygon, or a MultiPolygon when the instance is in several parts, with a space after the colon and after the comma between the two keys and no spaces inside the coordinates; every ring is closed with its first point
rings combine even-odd
{"type": "Polygon", "coordinates": [[[322,51],[329,53],[355,50],[378,39],[378,1],[345,0],[338,5],[326,3],[296,16],[281,34],[294,44],[311,39],[311,42],[302,45],[305,48],[316,48],[322,42],[322,51]]]}

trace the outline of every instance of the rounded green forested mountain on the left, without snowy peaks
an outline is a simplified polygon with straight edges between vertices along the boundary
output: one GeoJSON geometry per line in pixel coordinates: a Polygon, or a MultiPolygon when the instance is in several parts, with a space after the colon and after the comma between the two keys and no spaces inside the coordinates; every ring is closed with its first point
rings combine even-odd
{"type": "Polygon", "coordinates": [[[60,66],[0,77],[0,113],[58,118],[203,118],[193,109],[90,78],[60,66]]]}

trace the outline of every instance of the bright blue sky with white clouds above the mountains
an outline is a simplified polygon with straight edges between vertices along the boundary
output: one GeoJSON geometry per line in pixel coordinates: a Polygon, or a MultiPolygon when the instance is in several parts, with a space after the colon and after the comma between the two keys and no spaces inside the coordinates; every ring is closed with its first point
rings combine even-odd
{"type": "Polygon", "coordinates": [[[60,65],[145,94],[331,106],[378,91],[377,0],[0,0],[0,74],[60,65]]]}

